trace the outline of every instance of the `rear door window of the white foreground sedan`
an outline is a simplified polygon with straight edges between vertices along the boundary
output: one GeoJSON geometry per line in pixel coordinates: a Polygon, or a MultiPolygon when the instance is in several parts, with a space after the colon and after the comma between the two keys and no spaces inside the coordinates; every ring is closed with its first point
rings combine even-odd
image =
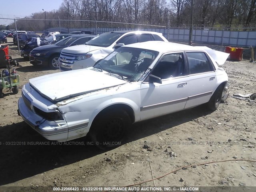
{"type": "Polygon", "coordinates": [[[190,74],[213,71],[212,65],[203,52],[187,52],[190,74]]]}

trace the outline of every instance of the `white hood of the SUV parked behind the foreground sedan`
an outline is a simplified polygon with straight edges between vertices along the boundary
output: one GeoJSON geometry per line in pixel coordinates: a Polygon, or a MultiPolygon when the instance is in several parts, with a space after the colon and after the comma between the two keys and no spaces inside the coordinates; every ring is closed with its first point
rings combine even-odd
{"type": "Polygon", "coordinates": [[[92,45],[75,45],[75,46],[62,49],[62,53],[86,54],[90,51],[94,51],[102,48],[104,47],[98,47],[98,46],[92,46],[92,45]]]}

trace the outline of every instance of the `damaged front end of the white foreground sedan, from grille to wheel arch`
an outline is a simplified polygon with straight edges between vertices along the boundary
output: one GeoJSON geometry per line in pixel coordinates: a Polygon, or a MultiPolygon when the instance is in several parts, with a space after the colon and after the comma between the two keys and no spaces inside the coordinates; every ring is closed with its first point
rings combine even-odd
{"type": "Polygon", "coordinates": [[[30,84],[22,88],[18,101],[18,115],[48,140],[65,142],[88,133],[88,119],[78,120],[80,111],[59,106],[42,97],[30,84]]]}

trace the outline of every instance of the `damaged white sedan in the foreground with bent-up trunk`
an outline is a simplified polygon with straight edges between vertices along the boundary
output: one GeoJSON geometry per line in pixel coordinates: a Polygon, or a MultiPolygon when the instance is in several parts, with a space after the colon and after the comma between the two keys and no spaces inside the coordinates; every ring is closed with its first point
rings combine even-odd
{"type": "Polygon", "coordinates": [[[170,42],[122,46],[94,67],[32,78],[22,88],[20,116],[48,140],[90,135],[100,148],[120,144],[134,122],[228,96],[219,65],[229,54],[170,42]]]}

